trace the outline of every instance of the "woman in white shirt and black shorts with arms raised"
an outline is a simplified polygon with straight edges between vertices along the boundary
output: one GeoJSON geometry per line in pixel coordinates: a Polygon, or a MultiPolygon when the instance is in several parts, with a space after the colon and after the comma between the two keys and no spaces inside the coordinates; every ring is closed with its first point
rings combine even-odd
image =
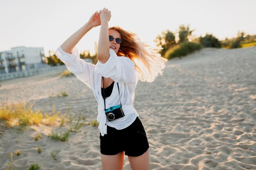
{"type": "Polygon", "coordinates": [[[138,80],[153,82],[158,74],[162,75],[166,59],[156,49],[146,50],[149,46],[141,43],[136,34],[116,26],[108,28],[110,18],[108,9],[96,11],[59,46],[56,55],[92,89],[99,104],[97,121],[103,170],[122,169],[124,154],[128,155],[132,170],[149,170],[148,139],[132,104],[138,80]],[[74,46],[99,25],[98,62],[94,65],[80,59],[74,46]]]}

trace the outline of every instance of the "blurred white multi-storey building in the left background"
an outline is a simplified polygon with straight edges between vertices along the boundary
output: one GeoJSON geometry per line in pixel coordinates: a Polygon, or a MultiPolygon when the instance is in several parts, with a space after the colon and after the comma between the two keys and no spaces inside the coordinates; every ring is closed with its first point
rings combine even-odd
{"type": "Polygon", "coordinates": [[[0,51],[0,74],[43,68],[45,54],[40,47],[13,47],[9,51],[0,51]]]}

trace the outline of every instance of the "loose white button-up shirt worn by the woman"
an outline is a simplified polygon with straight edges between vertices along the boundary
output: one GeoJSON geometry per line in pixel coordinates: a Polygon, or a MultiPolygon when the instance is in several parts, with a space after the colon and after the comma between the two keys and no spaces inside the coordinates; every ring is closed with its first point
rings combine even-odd
{"type": "Polygon", "coordinates": [[[137,77],[135,74],[135,64],[130,58],[117,56],[115,51],[110,49],[108,61],[103,64],[98,60],[97,64],[94,65],[81,59],[76,47],[72,50],[72,54],[69,54],[59,46],[55,54],[67,66],[70,72],[92,89],[94,97],[99,104],[97,121],[99,122],[98,128],[102,136],[107,134],[107,125],[120,130],[130,126],[136,117],[139,117],[133,107],[137,77]],[[106,109],[120,104],[117,88],[118,82],[124,117],[113,121],[107,120],[104,110],[104,99],[101,95],[101,76],[110,77],[115,81],[111,95],[105,99],[106,109]]]}

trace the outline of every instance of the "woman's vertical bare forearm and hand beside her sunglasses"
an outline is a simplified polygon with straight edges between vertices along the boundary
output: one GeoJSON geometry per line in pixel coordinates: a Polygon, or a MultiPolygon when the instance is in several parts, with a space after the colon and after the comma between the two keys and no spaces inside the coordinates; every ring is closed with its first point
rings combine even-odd
{"type": "Polygon", "coordinates": [[[103,10],[100,10],[101,30],[99,33],[97,59],[101,63],[106,63],[110,56],[109,39],[108,39],[108,22],[110,18],[111,18],[111,11],[108,11],[108,9],[105,9],[105,8],[103,8],[103,10]]]}

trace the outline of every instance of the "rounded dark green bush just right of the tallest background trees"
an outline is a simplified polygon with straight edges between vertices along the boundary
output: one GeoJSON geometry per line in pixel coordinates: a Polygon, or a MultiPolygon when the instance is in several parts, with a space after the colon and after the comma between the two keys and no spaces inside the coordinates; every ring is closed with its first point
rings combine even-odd
{"type": "Polygon", "coordinates": [[[204,47],[215,47],[220,48],[221,44],[218,38],[214,37],[211,34],[206,34],[204,37],[199,38],[200,44],[202,44],[204,47]]]}

